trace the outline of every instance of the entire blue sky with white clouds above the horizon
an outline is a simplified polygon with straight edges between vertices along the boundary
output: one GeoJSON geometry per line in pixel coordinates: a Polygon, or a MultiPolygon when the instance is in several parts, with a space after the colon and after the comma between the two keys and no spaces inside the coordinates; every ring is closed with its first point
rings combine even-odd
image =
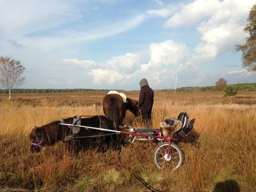
{"type": "MultiPolygon", "coordinates": [[[[256,82],[241,65],[256,0],[0,0],[0,55],[20,88],[139,90],[256,82]]],[[[1,88],[1,87],[0,87],[1,88]]]]}

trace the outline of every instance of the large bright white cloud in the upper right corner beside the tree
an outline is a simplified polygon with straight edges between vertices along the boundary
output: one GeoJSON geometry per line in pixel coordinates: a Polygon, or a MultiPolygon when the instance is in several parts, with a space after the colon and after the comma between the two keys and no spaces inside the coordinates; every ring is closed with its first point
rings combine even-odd
{"type": "Polygon", "coordinates": [[[255,0],[195,0],[182,4],[165,27],[198,24],[201,41],[194,47],[192,63],[208,61],[244,42],[244,26],[255,3],[255,0]]]}

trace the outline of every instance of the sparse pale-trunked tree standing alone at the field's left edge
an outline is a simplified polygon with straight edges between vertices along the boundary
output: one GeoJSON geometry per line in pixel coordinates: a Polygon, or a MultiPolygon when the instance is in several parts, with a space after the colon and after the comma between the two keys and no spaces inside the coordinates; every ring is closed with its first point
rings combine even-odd
{"type": "Polygon", "coordinates": [[[11,99],[12,88],[22,85],[25,77],[22,77],[25,68],[20,61],[10,57],[0,57],[0,82],[9,91],[11,99]]]}

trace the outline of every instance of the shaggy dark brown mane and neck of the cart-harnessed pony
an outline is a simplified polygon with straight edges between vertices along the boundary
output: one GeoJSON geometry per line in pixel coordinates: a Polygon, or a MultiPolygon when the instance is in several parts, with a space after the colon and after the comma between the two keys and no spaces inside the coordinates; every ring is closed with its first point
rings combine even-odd
{"type": "Polygon", "coordinates": [[[67,126],[59,128],[59,123],[72,123],[72,120],[73,118],[65,118],[63,121],[55,120],[43,126],[35,127],[32,129],[31,134],[29,134],[29,138],[34,140],[38,137],[38,134],[41,134],[45,144],[53,145],[57,139],[60,139],[61,132],[64,131],[64,127],[67,128],[67,126]]]}

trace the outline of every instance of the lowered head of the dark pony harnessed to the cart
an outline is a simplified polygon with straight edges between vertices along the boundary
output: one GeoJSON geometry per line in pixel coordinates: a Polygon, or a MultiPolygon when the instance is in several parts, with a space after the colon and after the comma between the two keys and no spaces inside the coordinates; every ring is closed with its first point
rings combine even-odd
{"type": "Polygon", "coordinates": [[[29,134],[29,138],[31,139],[32,143],[30,146],[30,150],[32,153],[42,150],[42,148],[45,145],[45,141],[43,138],[43,128],[42,127],[35,127],[31,131],[31,134],[29,134]]]}

